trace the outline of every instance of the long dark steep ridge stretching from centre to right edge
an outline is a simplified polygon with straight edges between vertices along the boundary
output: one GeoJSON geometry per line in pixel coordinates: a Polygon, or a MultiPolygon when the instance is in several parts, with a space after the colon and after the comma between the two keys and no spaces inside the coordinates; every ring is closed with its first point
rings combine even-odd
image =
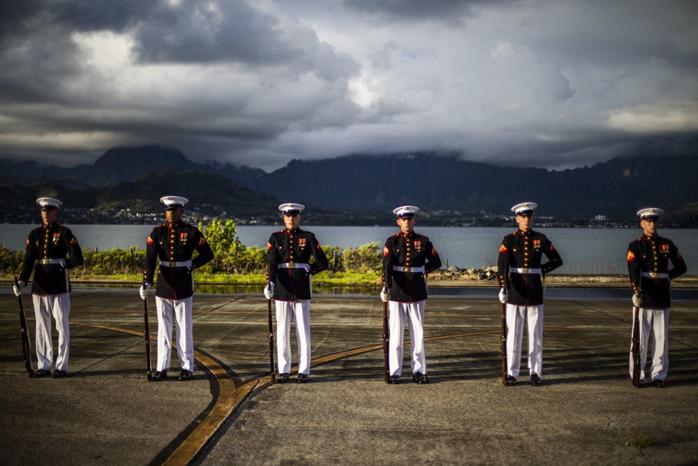
{"type": "Polygon", "coordinates": [[[534,201],[540,215],[566,218],[627,217],[644,205],[695,214],[697,185],[695,156],[618,158],[591,168],[549,171],[426,154],[292,160],[248,184],[279,198],[322,200],[325,207],[387,210],[414,204],[427,210],[508,214],[511,205],[534,201]]]}

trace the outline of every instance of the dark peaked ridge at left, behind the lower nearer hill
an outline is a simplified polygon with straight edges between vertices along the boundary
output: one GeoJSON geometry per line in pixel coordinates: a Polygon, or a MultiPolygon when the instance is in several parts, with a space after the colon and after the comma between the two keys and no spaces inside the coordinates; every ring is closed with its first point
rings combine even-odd
{"type": "Polygon", "coordinates": [[[0,161],[3,175],[34,178],[44,175],[63,183],[63,180],[80,180],[92,187],[103,187],[124,181],[133,181],[144,173],[154,172],[170,166],[178,170],[216,173],[238,183],[264,175],[260,168],[236,167],[230,163],[196,163],[187,159],[174,147],[144,145],[140,147],[112,147],[94,164],[61,168],[42,166],[35,161],[0,161]]]}

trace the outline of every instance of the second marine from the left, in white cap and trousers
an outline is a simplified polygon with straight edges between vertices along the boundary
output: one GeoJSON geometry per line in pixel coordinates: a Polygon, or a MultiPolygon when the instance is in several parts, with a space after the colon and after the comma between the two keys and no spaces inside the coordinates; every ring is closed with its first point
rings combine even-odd
{"type": "Polygon", "coordinates": [[[181,221],[186,198],[164,196],[167,221],[156,226],[148,236],[140,296],[147,299],[153,284],[156,265],[158,284],[155,303],[158,313],[158,361],[152,380],[168,377],[172,356],[172,321],[176,327],[179,380],[189,380],[194,372],[194,342],[192,324],[192,297],[194,270],[214,259],[209,243],[193,225],[181,221]],[[193,257],[194,252],[198,256],[193,257]]]}

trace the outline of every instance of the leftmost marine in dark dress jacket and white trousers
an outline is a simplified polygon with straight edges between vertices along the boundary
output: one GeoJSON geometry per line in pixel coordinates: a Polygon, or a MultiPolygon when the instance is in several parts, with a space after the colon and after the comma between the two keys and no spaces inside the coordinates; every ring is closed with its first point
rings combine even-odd
{"type": "Polygon", "coordinates": [[[15,286],[15,294],[20,296],[22,286],[31,282],[31,299],[36,316],[36,358],[38,370],[34,377],[65,377],[68,371],[70,354],[70,279],[68,270],[82,265],[82,250],[70,228],[59,225],[56,217],[61,201],[54,198],[38,198],[43,224],[29,232],[24,264],[15,286]],[[34,266],[36,263],[36,267],[34,266]],[[53,345],[51,342],[51,315],[56,321],[58,348],[56,369],[51,374],[53,345]]]}

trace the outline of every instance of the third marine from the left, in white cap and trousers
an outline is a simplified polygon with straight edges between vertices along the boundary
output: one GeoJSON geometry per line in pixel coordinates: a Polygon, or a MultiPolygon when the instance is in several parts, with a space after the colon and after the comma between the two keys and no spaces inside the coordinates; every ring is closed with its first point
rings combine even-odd
{"type": "Polygon", "coordinates": [[[308,380],[311,362],[311,277],[328,266],[320,242],[310,231],[299,228],[305,206],[279,205],[285,228],[272,233],[267,242],[265,296],[274,299],[276,310],[277,382],[288,381],[291,368],[291,316],[295,318],[298,344],[298,383],[308,380]],[[313,259],[311,263],[311,259],[313,259]]]}

